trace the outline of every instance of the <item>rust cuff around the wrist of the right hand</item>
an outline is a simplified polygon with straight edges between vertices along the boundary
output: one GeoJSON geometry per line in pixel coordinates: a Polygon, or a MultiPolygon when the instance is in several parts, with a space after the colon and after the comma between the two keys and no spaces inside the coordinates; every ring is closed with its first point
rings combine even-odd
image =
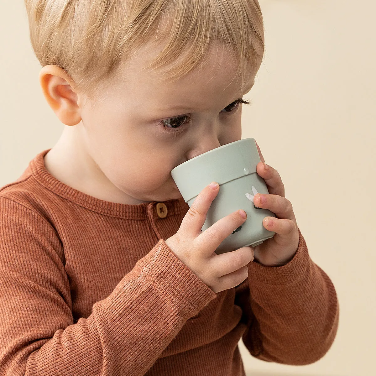
{"type": "Polygon", "coordinates": [[[250,262],[248,264],[249,276],[252,283],[267,285],[286,285],[296,282],[306,274],[306,270],[313,262],[308,254],[306,242],[299,228],[299,245],[294,257],[285,265],[270,267],[250,262]]]}

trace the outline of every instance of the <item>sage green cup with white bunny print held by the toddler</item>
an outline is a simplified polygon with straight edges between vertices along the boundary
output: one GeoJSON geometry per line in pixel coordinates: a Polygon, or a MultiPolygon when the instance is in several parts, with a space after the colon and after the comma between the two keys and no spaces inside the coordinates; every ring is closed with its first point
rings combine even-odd
{"type": "Polygon", "coordinates": [[[262,225],[265,217],[275,217],[275,214],[253,205],[255,194],[269,193],[264,179],[256,172],[259,162],[261,159],[255,139],[245,138],[209,150],[171,171],[177,188],[190,207],[197,195],[211,182],[220,185],[202,231],[239,209],[247,213],[246,221],[234,229],[215,250],[218,255],[241,247],[255,247],[275,234],[262,225]]]}

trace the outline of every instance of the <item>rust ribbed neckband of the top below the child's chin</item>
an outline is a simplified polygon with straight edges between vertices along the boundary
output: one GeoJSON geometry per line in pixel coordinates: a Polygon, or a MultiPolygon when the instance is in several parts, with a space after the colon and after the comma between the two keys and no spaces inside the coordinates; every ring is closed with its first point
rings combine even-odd
{"type": "MultiPolygon", "coordinates": [[[[30,161],[29,167],[32,176],[36,181],[47,188],[49,191],[69,200],[77,205],[87,208],[89,210],[98,212],[104,215],[110,215],[111,217],[127,218],[127,219],[145,219],[147,217],[148,210],[150,212],[150,206],[153,206],[158,201],[146,202],[138,205],[128,205],[115,203],[111,201],[105,201],[97,199],[79,190],[76,190],[60,180],[56,179],[52,174],[47,171],[44,164],[44,156],[51,149],[44,150],[36,155],[32,161],[30,161]]],[[[167,217],[174,214],[181,214],[186,212],[189,208],[184,199],[173,199],[164,201],[167,206],[167,217]]]]}

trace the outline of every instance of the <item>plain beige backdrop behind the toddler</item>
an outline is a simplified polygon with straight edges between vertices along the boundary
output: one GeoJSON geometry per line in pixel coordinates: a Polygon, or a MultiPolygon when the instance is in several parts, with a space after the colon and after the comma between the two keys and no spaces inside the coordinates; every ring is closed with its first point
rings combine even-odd
{"type": "MultiPolygon", "coordinates": [[[[254,137],[293,203],[312,259],[340,300],[336,340],[302,367],[254,359],[249,375],[370,376],[375,345],[376,98],[373,0],[261,0],[266,56],[245,96],[254,137]]],[[[38,83],[22,1],[0,2],[0,186],[57,141],[62,124],[38,83]]]]}

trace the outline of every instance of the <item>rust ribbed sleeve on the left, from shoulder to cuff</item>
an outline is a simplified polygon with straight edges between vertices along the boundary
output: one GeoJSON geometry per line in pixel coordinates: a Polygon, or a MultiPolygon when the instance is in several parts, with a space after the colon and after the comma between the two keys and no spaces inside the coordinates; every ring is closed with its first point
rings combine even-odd
{"type": "Polygon", "coordinates": [[[0,374],[143,375],[216,297],[159,241],[74,323],[64,264],[51,224],[0,197],[0,374]]]}

